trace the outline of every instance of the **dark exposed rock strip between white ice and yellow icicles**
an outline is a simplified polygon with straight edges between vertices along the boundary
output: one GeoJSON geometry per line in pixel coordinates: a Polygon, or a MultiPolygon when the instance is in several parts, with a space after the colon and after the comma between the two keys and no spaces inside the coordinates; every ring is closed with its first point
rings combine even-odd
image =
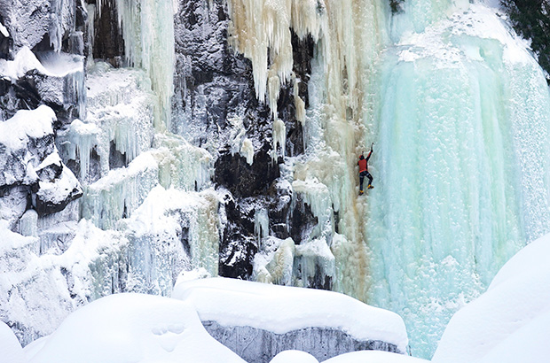
{"type": "MultiPolygon", "coordinates": [[[[295,89],[283,86],[278,118],[284,122],[287,143],[273,142],[274,120],[269,106],[255,95],[252,64],[228,45],[229,21],[223,0],[180,4],[175,18],[173,98],[173,119],[178,122],[173,131],[217,156],[214,182],[227,191],[219,273],[248,279],[261,239],[255,228],[256,211],[269,215],[265,236],[287,238],[293,228],[289,226],[300,228],[302,214],[291,217],[292,189],[278,186],[285,162],[281,156],[303,153],[303,129],[296,120],[295,89]]],[[[313,41],[293,35],[293,43],[294,72],[301,80],[298,92],[307,105],[313,41]]]]}

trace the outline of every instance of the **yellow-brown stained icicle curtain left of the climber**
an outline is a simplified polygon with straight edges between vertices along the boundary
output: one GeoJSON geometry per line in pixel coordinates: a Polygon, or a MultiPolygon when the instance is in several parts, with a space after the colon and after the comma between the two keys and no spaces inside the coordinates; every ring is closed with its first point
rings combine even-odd
{"type": "MultiPolygon", "coordinates": [[[[317,43],[307,112],[295,94],[296,116],[304,124],[306,158],[295,161],[294,180],[317,179],[328,190],[323,199],[328,210],[319,215],[332,214],[333,208],[339,212],[339,233],[345,236],[339,241],[347,243],[339,246],[347,253],[338,254],[334,262],[335,274],[342,276],[334,286],[365,299],[366,246],[359,222],[364,205],[356,198],[355,155],[367,143],[365,136],[373,123],[372,79],[379,50],[388,38],[386,5],[376,0],[232,0],[229,8],[230,43],[251,59],[256,96],[260,100],[267,96],[271,108],[277,101],[277,85],[294,81],[290,84],[296,88],[290,29],[300,39],[310,35],[317,43]]],[[[334,226],[325,230],[330,243],[334,226]]]]}

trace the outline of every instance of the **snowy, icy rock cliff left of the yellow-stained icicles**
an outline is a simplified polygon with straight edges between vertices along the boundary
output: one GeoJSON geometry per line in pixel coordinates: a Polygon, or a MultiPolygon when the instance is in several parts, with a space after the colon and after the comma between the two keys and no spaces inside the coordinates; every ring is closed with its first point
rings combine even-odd
{"type": "MultiPolygon", "coordinates": [[[[23,235],[32,246],[28,258],[39,260],[71,253],[75,241],[118,241],[88,256],[82,271],[57,259],[45,269],[25,267],[29,277],[6,290],[31,301],[41,281],[59,280],[49,301],[64,301],[68,313],[114,292],[169,295],[177,274],[195,268],[331,289],[334,266],[325,270],[316,266],[315,252],[295,252],[311,231],[324,228],[292,186],[293,165],[305,150],[295,100],[309,105],[313,38],[291,34],[299,81],[280,85],[274,114],[274,105],[256,94],[252,62],[228,42],[226,1],[180,1],[176,9],[171,1],[139,4],[0,4],[3,228],[23,235]],[[153,17],[165,10],[174,14],[172,30],[155,26],[153,17]],[[169,89],[167,109],[162,95],[169,89]],[[47,131],[34,135],[20,127],[26,122],[47,131]],[[8,136],[16,124],[26,142],[14,148],[8,136]],[[159,184],[183,191],[179,203],[157,215],[176,227],[142,230],[141,219],[156,218],[145,205],[159,184]],[[255,270],[258,252],[263,264],[255,270]],[[268,263],[273,253],[290,253],[282,274],[268,263]]],[[[164,193],[153,194],[169,196],[164,193]]],[[[10,253],[1,251],[0,259],[22,268],[10,253]]],[[[2,297],[3,305],[11,299],[2,297]]],[[[51,332],[64,315],[55,313],[49,326],[8,308],[1,314],[23,344],[51,332]]]]}

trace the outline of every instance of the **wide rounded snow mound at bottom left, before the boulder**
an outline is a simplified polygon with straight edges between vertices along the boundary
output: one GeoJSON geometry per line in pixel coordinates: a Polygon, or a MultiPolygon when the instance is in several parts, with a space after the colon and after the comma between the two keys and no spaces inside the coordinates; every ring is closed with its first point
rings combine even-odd
{"type": "Polygon", "coordinates": [[[192,304],[141,294],[100,298],[25,351],[34,363],[245,363],[208,336],[192,304]]]}

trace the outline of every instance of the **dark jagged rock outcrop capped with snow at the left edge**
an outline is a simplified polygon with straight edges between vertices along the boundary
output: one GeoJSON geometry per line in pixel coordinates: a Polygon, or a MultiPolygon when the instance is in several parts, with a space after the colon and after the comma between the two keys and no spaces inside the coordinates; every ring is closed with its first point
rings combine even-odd
{"type": "Polygon", "coordinates": [[[31,202],[46,215],[63,210],[83,190],[61,162],[54,143],[56,115],[41,105],[0,123],[0,214],[12,224],[31,202]]]}

